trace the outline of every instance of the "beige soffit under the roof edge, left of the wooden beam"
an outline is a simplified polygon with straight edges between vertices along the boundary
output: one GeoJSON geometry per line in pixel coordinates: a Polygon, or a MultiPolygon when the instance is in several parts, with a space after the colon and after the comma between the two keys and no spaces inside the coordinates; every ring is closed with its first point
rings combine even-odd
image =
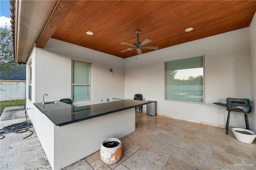
{"type": "Polygon", "coordinates": [[[42,34],[58,0],[22,0],[20,26],[16,32],[18,44],[16,47],[16,61],[26,63],[30,51],[42,34]]]}

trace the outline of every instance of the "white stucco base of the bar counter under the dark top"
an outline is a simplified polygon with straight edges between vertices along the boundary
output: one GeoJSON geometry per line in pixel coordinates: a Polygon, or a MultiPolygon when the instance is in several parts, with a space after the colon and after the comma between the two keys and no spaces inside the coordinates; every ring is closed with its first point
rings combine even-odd
{"type": "Polygon", "coordinates": [[[34,108],[29,115],[52,169],[60,170],[100,150],[103,140],[135,131],[134,108],[65,126],[54,125],[34,108]]]}

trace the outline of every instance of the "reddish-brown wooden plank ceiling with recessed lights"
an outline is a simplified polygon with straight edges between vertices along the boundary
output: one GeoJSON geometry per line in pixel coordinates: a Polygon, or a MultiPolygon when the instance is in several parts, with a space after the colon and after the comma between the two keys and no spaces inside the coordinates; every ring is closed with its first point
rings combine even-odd
{"type": "MultiPolygon", "coordinates": [[[[131,46],[120,42],[137,42],[135,30],[141,31],[140,42],[148,38],[152,42],[147,46],[162,49],[248,27],[255,12],[254,0],[78,0],[51,38],[126,58],[136,55],[136,50],[121,53],[131,46]],[[190,27],[194,29],[185,32],[190,27]]],[[[154,50],[142,49],[142,53],[150,51],[154,50]]]]}

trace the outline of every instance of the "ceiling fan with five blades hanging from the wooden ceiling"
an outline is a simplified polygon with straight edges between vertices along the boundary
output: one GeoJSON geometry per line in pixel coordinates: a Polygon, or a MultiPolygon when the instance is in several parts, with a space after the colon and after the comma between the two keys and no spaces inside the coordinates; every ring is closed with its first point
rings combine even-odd
{"type": "Polygon", "coordinates": [[[149,43],[151,42],[150,39],[146,39],[144,40],[143,42],[139,42],[139,34],[140,34],[140,30],[136,30],[135,33],[137,34],[137,42],[133,43],[133,44],[130,44],[130,43],[124,43],[124,42],[120,42],[122,44],[126,44],[126,45],[131,45],[133,46],[133,48],[128,48],[128,49],[125,49],[123,51],[120,51],[121,53],[124,52],[124,51],[130,51],[132,49],[136,49],[137,52],[138,52],[138,55],[142,54],[142,51],[141,51],[141,48],[145,48],[145,49],[158,49],[159,47],[154,47],[154,46],[144,46],[146,43],[149,43]]]}

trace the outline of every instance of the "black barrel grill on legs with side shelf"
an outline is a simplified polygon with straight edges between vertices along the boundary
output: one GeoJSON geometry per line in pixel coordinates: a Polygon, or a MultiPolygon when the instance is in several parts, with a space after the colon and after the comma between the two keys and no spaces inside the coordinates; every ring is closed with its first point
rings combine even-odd
{"type": "Polygon", "coordinates": [[[226,123],[226,134],[228,134],[230,112],[243,112],[245,118],[246,129],[250,130],[248,115],[252,111],[252,107],[249,99],[227,98],[227,103],[214,102],[216,105],[224,106],[228,111],[228,118],[226,123]]]}

